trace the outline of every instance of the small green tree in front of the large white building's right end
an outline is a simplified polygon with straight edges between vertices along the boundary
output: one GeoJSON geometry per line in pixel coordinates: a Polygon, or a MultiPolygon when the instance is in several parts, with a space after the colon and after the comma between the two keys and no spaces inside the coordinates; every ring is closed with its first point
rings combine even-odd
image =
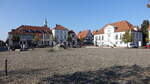
{"type": "Polygon", "coordinates": [[[125,34],[122,37],[122,40],[124,43],[127,43],[127,47],[128,47],[128,43],[133,41],[133,37],[130,31],[126,31],[125,34]]]}

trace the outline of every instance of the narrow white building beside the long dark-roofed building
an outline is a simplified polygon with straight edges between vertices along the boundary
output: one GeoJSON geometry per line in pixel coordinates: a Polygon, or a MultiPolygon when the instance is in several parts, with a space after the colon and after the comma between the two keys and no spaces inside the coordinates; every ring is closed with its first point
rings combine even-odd
{"type": "Polygon", "coordinates": [[[67,43],[68,32],[67,28],[58,24],[52,29],[53,37],[57,40],[57,43],[67,43]]]}

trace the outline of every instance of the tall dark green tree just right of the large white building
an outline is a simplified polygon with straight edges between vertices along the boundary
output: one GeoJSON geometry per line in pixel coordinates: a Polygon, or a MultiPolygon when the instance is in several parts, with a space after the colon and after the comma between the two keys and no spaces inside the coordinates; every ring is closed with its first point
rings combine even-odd
{"type": "Polygon", "coordinates": [[[149,27],[149,21],[144,20],[143,23],[141,24],[141,32],[143,34],[143,45],[146,45],[148,42],[148,27],[149,27]]]}

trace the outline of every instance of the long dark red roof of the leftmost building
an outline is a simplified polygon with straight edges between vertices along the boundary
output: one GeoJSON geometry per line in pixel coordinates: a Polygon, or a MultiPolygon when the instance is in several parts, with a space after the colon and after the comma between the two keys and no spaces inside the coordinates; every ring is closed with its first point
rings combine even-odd
{"type": "Polygon", "coordinates": [[[50,28],[45,26],[28,26],[28,25],[22,25],[18,27],[17,29],[13,29],[10,34],[52,34],[52,31],[50,28]]]}

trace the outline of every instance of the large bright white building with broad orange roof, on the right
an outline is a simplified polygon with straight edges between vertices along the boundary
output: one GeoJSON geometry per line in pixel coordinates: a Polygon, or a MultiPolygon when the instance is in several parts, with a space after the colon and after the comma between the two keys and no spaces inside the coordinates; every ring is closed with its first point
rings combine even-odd
{"type": "Polygon", "coordinates": [[[97,46],[127,47],[127,44],[122,41],[126,31],[131,31],[133,43],[141,46],[142,33],[128,21],[105,25],[94,35],[94,44],[97,46]]]}

